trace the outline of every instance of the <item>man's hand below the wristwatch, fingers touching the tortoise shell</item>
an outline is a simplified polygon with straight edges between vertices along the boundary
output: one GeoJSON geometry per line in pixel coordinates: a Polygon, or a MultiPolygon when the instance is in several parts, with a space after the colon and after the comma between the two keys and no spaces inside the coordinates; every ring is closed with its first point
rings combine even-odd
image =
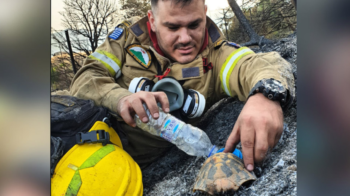
{"type": "Polygon", "coordinates": [[[232,132],[224,152],[233,152],[241,142],[244,165],[253,171],[254,162],[262,161],[267,151],[278,143],[283,132],[283,112],[278,101],[262,93],[249,97],[232,132]]]}

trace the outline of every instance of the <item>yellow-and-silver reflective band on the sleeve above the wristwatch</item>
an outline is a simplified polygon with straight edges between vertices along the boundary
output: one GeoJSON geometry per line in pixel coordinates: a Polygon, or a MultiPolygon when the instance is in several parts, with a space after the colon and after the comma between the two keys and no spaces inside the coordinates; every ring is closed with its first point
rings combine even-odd
{"type": "Polygon", "coordinates": [[[232,97],[232,92],[229,84],[229,79],[232,74],[233,68],[235,68],[237,62],[248,54],[253,54],[254,52],[248,47],[241,47],[233,51],[228,58],[226,58],[224,65],[220,70],[220,81],[221,87],[226,92],[227,95],[232,97]]]}

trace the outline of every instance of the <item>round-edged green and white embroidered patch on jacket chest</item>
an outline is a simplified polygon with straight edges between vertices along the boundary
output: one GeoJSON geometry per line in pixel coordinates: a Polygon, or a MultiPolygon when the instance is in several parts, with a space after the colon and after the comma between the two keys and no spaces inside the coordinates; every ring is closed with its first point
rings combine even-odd
{"type": "Polygon", "coordinates": [[[151,53],[141,46],[141,44],[131,44],[125,48],[126,52],[130,54],[142,67],[148,69],[151,65],[151,53]]]}

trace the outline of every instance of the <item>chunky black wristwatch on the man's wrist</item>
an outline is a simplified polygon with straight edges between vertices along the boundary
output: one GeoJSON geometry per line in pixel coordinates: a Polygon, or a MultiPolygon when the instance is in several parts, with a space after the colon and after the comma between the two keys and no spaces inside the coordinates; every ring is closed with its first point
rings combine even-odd
{"type": "Polygon", "coordinates": [[[257,92],[261,92],[265,97],[279,101],[281,107],[286,106],[287,101],[287,89],[281,84],[280,81],[273,78],[259,80],[257,84],[249,92],[248,98],[257,92]]]}

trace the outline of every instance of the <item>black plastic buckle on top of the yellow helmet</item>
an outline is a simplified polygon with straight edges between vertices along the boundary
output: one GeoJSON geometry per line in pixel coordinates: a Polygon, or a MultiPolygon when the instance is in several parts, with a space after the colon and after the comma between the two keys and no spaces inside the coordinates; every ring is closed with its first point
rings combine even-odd
{"type": "Polygon", "coordinates": [[[102,145],[106,145],[110,140],[109,133],[105,130],[93,130],[87,133],[79,132],[76,135],[76,141],[78,145],[83,145],[84,143],[102,143],[102,145]],[[97,139],[97,134],[98,138],[97,139]]]}

